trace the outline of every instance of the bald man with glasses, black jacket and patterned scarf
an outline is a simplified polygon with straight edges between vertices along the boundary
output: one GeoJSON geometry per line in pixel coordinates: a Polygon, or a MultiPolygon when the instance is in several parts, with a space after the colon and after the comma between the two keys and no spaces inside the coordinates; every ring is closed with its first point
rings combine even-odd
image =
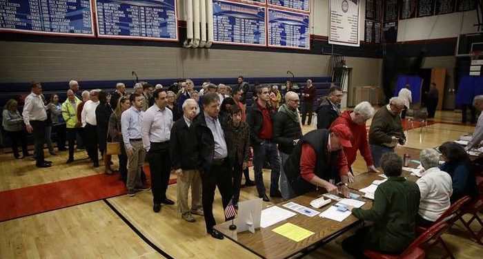
{"type": "Polygon", "coordinates": [[[273,141],[278,144],[278,150],[282,157],[280,191],[282,192],[282,198],[285,200],[295,197],[295,193],[288,186],[283,164],[300,138],[302,138],[302,128],[300,127],[300,119],[297,113],[299,104],[299,95],[294,92],[288,92],[285,95],[285,103],[282,104],[278,113],[273,117],[273,141]]]}

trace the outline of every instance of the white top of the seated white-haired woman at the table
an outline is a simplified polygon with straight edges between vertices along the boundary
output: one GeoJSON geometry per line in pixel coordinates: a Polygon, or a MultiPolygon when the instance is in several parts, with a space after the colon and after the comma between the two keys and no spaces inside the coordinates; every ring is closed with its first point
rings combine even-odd
{"type": "Polygon", "coordinates": [[[418,213],[425,220],[434,222],[451,205],[449,198],[453,193],[453,182],[449,173],[437,167],[424,171],[422,175],[416,181],[421,193],[418,213]]]}

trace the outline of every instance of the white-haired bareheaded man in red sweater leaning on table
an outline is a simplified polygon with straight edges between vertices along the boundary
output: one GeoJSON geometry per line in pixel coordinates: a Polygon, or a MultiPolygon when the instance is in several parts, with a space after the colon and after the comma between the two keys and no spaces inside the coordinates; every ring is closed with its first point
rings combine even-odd
{"type": "Polygon", "coordinates": [[[349,182],[353,182],[354,173],[351,169],[351,165],[355,162],[355,157],[357,156],[357,150],[361,153],[362,157],[367,164],[367,171],[373,171],[379,173],[379,171],[374,166],[373,157],[371,155],[371,148],[367,142],[367,129],[366,121],[374,116],[374,108],[368,102],[361,102],[355,106],[354,111],[344,111],[341,115],[335,119],[332,123],[331,128],[336,125],[344,124],[346,125],[353,139],[351,140],[352,146],[344,146],[344,155],[347,158],[347,164],[351,170],[348,173],[349,182]]]}

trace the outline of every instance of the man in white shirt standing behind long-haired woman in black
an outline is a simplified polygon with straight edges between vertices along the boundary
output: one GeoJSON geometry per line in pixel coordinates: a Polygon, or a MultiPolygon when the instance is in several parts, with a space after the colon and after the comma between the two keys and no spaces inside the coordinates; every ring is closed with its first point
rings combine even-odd
{"type": "Polygon", "coordinates": [[[86,150],[92,159],[94,167],[99,167],[99,154],[97,152],[97,120],[96,108],[99,105],[100,89],[91,90],[90,99],[84,104],[81,112],[81,122],[86,134],[86,150]]]}

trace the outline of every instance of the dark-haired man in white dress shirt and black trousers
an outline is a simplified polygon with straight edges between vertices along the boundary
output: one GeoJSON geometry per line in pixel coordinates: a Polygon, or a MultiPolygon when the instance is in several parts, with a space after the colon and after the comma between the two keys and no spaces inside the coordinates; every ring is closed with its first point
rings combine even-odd
{"type": "Polygon", "coordinates": [[[166,197],[171,171],[169,140],[172,112],[166,108],[168,99],[165,90],[155,90],[153,96],[155,104],[144,113],[141,124],[141,138],[146,152],[149,153],[152,202],[154,204],[152,211],[157,213],[161,210],[161,203],[175,204],[166,197]]]}

